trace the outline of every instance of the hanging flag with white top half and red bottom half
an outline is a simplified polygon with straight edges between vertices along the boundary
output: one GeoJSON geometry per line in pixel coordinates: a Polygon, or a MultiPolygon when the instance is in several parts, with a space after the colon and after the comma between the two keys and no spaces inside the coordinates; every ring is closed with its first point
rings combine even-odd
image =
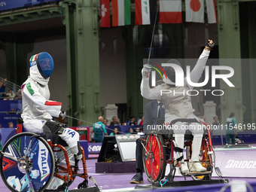
{"type": "Polygon", "coordinates": [[[181,0],[160,0],[160,23],[182,23],[181,0]]]}

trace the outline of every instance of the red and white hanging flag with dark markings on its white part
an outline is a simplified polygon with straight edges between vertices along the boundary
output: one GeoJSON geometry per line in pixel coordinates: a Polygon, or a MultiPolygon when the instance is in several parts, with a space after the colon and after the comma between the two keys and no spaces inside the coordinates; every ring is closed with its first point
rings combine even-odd
{"type": "Polygon", "coordinates": [[[135,24],[151,24],[149,0],[135,0],[135,24]]]}

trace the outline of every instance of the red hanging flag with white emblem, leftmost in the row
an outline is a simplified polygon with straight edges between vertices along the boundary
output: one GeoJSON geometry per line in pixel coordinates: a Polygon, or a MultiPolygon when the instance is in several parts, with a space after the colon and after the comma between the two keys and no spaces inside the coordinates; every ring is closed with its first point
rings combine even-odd
{"type": "Polygon", "coordinates": [[[100,27],[110,27],[109,0],[100,0],[100,27]]]}

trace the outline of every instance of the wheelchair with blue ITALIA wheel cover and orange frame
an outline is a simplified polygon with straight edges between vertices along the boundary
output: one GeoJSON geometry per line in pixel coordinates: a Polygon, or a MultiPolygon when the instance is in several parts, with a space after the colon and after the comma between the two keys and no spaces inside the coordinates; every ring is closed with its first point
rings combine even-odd
{"type": "Polygon", "coordinates": [[[84,149],[81,147],[83,172],[78,173],[78,160],[65,145],[66,142],[57,144],[59,142],[53,140],[50,130],[44,130],[42,135],[18,133],[6,142],[0,151],[0,172],[11,191],[68,192],[76,177],[84,178],[78,189],[88,187],[84,149]]]}

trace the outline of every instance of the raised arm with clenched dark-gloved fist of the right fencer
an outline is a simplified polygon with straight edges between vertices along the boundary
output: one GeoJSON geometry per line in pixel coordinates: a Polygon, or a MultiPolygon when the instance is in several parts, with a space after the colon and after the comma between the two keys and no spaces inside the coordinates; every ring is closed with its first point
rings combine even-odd
{"type": "MultiPolygon", "coordinates": [[[[203,50],[203,53],[201,53],[199,59],[197,60],[196,66],[194,66],[194,69],[190,72],[190,81],[192,81],[193,83],[197,83],[203,74],[211,50],[209,46],[214,46],[212,40],[209,40],[206,43],[205,49],[203,50]]],[[[187,81],[187,77],[185,78],[185,81],[187,81]]],[[[190,84],[188,84],[188,86],[190,87],[190,90],[193,90],[193,86],[191,86],[190,84]]]]}

